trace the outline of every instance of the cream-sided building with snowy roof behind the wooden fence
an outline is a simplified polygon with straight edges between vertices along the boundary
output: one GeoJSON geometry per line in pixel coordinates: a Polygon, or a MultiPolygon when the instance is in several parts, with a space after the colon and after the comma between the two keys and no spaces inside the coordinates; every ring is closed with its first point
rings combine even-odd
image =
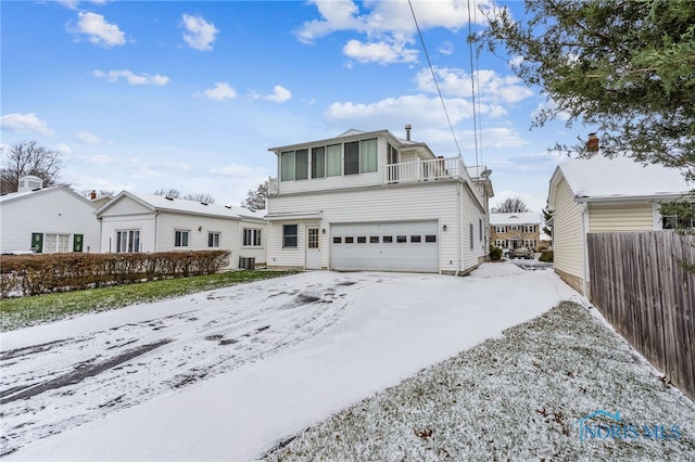
{"type": "Polygon", "coordinates": [[[596,156],[558,166],[551,178],[555,271],[589,296],[586,234],[673,228],[660,204],[687,198],[692,187],[678,169],[643,166],[627,157],[596,156]]]}

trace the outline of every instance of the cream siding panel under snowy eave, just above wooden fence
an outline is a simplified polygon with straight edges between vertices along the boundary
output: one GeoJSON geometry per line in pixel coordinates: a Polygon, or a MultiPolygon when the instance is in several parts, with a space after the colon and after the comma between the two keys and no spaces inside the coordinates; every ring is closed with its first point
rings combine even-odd
{"type": "Polygon", "coordinates": [[[590,204],[589,231],[652,231],[654,230],[654,206],[643,204],[590,204]]]}

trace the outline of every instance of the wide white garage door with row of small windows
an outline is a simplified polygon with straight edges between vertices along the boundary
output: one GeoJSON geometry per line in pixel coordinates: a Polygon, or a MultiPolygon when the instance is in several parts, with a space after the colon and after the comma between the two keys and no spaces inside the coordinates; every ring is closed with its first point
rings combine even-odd
{"type": "Polygon", "coordinates": [[[330,227],[330,266],[339,271],[439,272],[437,221],[330,227]]]}

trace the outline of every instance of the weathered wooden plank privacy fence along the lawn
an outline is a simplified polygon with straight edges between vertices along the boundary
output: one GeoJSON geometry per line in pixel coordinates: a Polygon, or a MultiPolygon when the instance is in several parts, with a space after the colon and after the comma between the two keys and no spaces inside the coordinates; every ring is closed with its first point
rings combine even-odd
{"type": "Polygon", "coordinates": [[[695,236],[673,231],[587,234],[591,301],[695,399],[695,236]]]}

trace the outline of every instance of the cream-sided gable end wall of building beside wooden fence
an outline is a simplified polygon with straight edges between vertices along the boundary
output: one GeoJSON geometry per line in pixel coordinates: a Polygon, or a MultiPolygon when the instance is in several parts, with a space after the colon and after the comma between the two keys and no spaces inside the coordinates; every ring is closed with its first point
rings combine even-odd
{"type": "Polygon", "coordinates": [[[555,197],[553,251],[556,269],[583,279],[582,206],[574,202],[565,178],[559,180],[555,197]]]}

